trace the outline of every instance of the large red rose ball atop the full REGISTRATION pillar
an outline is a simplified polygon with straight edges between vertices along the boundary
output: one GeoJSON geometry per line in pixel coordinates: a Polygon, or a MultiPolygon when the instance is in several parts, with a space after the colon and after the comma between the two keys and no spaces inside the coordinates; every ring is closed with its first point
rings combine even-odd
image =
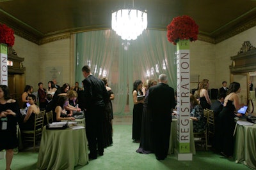
{"type": "Polygon", "coordinates": [[[176,45],[179,39],[189,39],[196,41],[198,35],[198,25],[188,15],[173,18],[167,26],[167,38],[170,43],[176,45]]]}

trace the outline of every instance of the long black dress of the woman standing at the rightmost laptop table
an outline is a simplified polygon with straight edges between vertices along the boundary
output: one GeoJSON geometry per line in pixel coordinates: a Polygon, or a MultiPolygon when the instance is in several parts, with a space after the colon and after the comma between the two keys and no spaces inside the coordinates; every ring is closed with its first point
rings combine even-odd
{"type": "Polygon", "coordinates": [[[234,152],[234,137],[236,123],[234,122],[235,106],[233,101],[227,102],[218,115],[216,122],[216,150],[223,152],[226,156],[232,156],[234,152]]]}

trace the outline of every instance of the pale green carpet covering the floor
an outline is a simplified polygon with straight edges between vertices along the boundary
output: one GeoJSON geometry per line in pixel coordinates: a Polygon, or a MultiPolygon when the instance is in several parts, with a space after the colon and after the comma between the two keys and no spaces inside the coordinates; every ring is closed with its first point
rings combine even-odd
{"type": "MultiPolygon", "coordinates": [[[[234,159],[226,159],[212,152],[196,152],[193,161],[178,161],[175,155],[168,155],[165,160],[156,160],[154,154],[136,153],[138,143],[132,143],[131,125],[114,125],[113,146],[105,149],[104,156],[90,160],[86,166],[77,166],[75,169],[250,169],[243,164],[236,164],[234,159]]],[[[38,153],[19,152],[14,155],[13,170],[36,169],[38,153]]],[[[63,155],[67,156],[67,155],[63,155]]],[[[5,168],[5,159],[0,160],[0,169],[5,168]]],[[[59,169],[57,169],[59,170],[59,169]]]]}

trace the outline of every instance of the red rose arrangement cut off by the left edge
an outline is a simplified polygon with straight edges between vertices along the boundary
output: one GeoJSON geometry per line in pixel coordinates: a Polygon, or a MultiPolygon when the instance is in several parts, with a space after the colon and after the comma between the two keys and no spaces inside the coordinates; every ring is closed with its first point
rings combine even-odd
{"type": "Polygon", "coordinates": [[[5,24],[0,24],[0,43],[8,46],[14,45],[14,31],[5,24]]]}

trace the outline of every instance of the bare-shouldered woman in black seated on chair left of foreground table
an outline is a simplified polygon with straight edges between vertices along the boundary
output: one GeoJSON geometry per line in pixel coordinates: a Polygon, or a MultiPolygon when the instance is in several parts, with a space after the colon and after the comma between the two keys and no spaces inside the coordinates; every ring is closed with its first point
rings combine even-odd
{"type": "Polygon", "coordinates": [[[24,117],[22,117],[22,122],[20,124],[21,130],[31,131],[34,129],[35,126],[35,114],[38,114],[40,112],[40,108],[36,106],[36,96],[33,94],[29,94],[28,97],[28,103],[30,104],[28,111],[24,117]]]}

